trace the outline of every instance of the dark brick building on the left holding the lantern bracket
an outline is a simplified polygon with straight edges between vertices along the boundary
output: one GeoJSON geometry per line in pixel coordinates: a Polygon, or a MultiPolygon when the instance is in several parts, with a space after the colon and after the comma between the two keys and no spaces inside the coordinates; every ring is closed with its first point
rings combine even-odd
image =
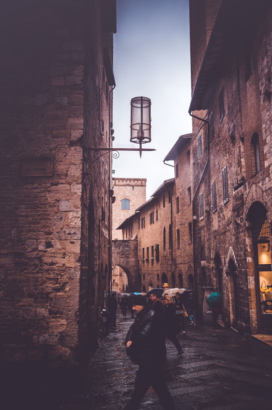
{"type": "Polygon", "coordinates": [[[1,362],[78,370],[111,266],[114,0],[11,0],[1,44],[1,362]]]}

